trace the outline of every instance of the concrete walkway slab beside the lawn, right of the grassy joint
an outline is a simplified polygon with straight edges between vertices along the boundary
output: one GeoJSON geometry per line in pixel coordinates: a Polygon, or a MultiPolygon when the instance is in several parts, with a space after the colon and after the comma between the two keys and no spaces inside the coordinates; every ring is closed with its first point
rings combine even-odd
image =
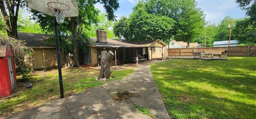
{"type": "Polygon", "coordinates": [[[170,118],[164,107],[155,81],[152,78],[149,65],[138,67],[129,77],[110,82],[102,87],[114,92],[127,90],[139,94],[139,98],[132,97],[127,101],[146,107],[155,118],[170,118]]]}

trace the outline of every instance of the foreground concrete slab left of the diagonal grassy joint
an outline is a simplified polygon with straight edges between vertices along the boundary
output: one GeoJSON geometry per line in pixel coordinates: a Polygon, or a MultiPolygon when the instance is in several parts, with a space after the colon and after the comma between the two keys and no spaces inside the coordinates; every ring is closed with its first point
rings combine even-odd
{"type": "Polygon", "coordinates": [[[97,87],[8,118],[151,118],[129,103],[112,100],[109,91],[97,87]]]}

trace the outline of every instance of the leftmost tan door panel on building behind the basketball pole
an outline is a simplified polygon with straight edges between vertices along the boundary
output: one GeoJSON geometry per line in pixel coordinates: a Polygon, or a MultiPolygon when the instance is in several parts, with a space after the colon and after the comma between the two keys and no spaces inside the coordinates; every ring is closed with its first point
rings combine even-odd
{"type": "Polygon", "coordinates": [[[33,54],[34,69],[44,68],[43,51],[42,50],[34,50],[34,51],[35,51],[33,54]]]}

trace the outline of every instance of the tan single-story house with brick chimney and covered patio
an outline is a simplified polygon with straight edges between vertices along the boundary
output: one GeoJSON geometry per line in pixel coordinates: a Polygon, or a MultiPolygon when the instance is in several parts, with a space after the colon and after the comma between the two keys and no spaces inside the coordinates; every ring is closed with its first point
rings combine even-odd
{"type": "Polygon", "coordinates": [[[97,38],[91,39],[92,44],[86,44],[89,46],[89,52],[82,55],[83,64],[99,65],[102,50],[111,50],[115,53],[115,61],[118,60],[120,64],[134,61],[135,57],[139,56],[147,56],[146,58],[149,60],[162,59],[164,55],[163,47],[166,46],[159,39],[137,42],[109,39],[107,38],[106,31],[97,31],[97,38]]]}

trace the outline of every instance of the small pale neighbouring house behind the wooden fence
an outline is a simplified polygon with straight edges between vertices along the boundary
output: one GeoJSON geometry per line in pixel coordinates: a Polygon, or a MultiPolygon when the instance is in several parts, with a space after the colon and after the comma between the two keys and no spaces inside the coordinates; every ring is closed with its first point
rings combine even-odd
{"type": "MultiPolygon", "coordinates": [[[[172,40],[172,41],[170,41],[169,45],[170,45],[169,48],[186,48],[188,43],[185,43],[183,41],[172,40]]],[[[198,43],[190,43],[189,44],[190,48],[194,48],[194,47],[198,47],[198,46],[199,46],[198,43]]],[[[165,49],[168,49],[168,45],[165,46],[165,49]]]]}

